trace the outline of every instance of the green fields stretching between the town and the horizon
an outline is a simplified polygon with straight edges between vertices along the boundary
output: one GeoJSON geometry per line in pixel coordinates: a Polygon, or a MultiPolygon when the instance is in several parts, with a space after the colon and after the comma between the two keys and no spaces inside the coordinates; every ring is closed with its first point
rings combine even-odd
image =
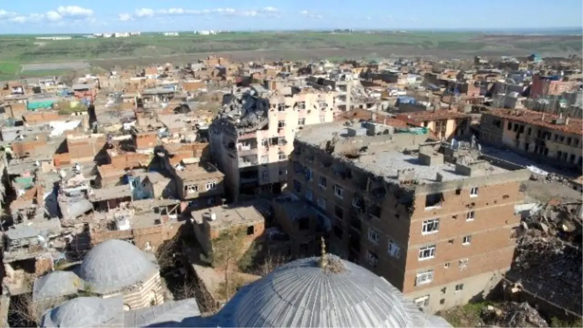
{"type": "MultiPolygon", "coordinates": [[[[20,74],[20,65],[31,62],[88,61],[109,68],[128,65],[132,60],[187,60],[187,54],[233,54],[241,60],[275,57],[362,58],[374,54],[433,55],[468,57],[472,55],[564,55],[581,53],[580,36],[487,36],[479,33],[411,32],[353,33],[324,32],[233,33],[216,36],[182,34],[164,37],[145,34],[138,37],[72,40],[36,40],[33,36],[0,36],[0,79],[20,74]],[[256,51],[257,53],[251,53],[256,51]],[[245,52],[250,52],[249,54],[245,52]],[[243,53],[245,53],[243,55],[243,53]],[[237,55],[241,54],[241,55],[237,55]]],[[[273,58],[272,58],[273,59],[273,58]]],[[[52,67],[51,69],[55,69],[52,67]]],[[[43,71],[27,71],[26,75],[43,71]]]]}

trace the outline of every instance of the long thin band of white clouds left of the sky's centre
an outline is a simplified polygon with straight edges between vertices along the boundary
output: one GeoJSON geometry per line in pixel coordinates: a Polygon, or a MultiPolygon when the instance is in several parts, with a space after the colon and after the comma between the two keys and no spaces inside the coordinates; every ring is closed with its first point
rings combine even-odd
{"type": "MultiPolygon", "coordinates": [[[[184,8],[168,8],[168,9],[152,9],[152,8],[140,8],[136,9],[134,16],[137,18],[153,18],[154,16],[186,16],[186,15],[198,15],[198,16],[210,16],[210,15],[222,15],[222,16],[243,16],[243,17],[277,17],[279,15],[279,9],[275,7],[265,7],[261,9],[233,9],[233,8],[214,8],[214,9],[184,9],[184,8]]],[[[125,14],[122,14],[125,15],[125,14]]],[[[121,18],[121,15],[120,15],[121,18]]]]}

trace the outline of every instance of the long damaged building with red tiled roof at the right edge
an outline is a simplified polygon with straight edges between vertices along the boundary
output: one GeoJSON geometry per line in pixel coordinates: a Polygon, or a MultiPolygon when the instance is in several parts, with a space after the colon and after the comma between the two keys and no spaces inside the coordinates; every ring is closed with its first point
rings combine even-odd
{"type": "Polygon", "coordinates": [[[566,168],[583,165],[583,119],[532,110],[494,109],[482,114],[480,142],[566,168]]]}

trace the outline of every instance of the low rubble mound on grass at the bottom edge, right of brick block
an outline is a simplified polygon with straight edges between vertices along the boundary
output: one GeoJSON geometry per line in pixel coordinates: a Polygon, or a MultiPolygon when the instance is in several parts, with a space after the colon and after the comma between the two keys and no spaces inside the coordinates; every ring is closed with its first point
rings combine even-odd
{"type": "Polygon", "coordinates": [[[508,302],[500,306],[487,306],[482,320],[489,327],[499,328],[549,328],[539,312],[528,303],[508,302]]]}

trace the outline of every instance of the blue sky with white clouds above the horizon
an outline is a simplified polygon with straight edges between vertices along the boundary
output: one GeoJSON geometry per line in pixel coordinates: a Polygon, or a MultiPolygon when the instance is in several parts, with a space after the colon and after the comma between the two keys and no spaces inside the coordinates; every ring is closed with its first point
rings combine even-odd
{"type": "Polygon", "coordinates": [[[581,26],[581,0],[0,1],[0,33],[581,26]]]}

